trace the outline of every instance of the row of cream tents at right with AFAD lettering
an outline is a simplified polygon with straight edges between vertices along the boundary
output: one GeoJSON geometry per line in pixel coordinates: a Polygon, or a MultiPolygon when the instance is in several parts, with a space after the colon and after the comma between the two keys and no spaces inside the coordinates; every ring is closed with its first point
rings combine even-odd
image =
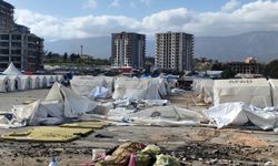
{"type": "Polygon", "coordinates": [[[195,80],[193,90],[206,103],[214,105],[244,102],[258,107],[278,106],[278,80],[272,79],[198,79],[195,80]]]}

